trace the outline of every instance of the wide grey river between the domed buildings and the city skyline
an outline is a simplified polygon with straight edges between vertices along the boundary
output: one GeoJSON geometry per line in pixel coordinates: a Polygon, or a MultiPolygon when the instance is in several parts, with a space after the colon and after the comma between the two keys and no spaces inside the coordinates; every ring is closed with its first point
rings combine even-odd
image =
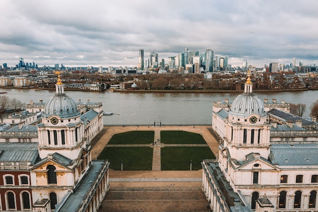
{"type": "MultiPolygon", "coordinates": [[[[2,89],[10,98],[28,104],[47,102],[55,90],[2,89]]],[[[212,103],[217,100],[235,99],[240,93],[120,93],[66,91],[75,102],[102,102],[105,112],[104,125],[211,125],[212,103]]],[[[3,94],[2,94],[3,95],[3,94]]],[[[310,105],[318,100],[318,90],[305,92],[256,93],[261,99],[285,100],[287,103],[305,103],[304,117],[310,113],[310,105]]]]}

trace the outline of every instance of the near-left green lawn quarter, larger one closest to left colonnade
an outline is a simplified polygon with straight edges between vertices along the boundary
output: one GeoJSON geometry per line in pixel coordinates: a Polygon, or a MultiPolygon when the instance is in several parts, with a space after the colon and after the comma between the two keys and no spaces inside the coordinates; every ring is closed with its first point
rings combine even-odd
{"type": "MultiPolygon", "coordinates": [[[[140,131],[139,131],[140,132],[140,131]]],[[[110,168],[114,170],[151,170],[152,153],[150,147],[105,147],[98,157],[110,162],[110,168]]]]}

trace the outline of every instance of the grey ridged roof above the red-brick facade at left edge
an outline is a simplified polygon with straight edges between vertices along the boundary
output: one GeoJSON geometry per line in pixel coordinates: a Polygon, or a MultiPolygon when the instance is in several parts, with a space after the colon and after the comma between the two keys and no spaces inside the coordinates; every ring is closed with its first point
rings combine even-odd
{"type": "Polygon", "coordinates": [[[39,157],[38,143],[0,143],[1,162],[31,162],[39,157]]]}

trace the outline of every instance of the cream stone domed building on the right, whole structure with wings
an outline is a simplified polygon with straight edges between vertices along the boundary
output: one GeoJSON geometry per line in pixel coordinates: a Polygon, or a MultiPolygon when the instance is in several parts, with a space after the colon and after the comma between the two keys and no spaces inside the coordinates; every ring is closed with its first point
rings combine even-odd
{"type": "Polygon", "coordinates": [[[249,76],[233,102],[213,103],[220,145],[217,160],[202,163],[202,189],[213,211],[318,210],[317,127],[284,119],[286,106],[253,94],[249,76]]]}

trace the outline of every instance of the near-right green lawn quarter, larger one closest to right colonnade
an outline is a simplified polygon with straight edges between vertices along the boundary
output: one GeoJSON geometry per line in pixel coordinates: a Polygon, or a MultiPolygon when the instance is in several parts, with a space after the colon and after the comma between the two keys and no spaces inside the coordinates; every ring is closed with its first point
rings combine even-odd
{"type": "Polygon", "coordinates": [[[178,146],[161,148],[161,170],[192,170],[202,169],[203,159],[215,159],[209,147],[178,146]]]}

